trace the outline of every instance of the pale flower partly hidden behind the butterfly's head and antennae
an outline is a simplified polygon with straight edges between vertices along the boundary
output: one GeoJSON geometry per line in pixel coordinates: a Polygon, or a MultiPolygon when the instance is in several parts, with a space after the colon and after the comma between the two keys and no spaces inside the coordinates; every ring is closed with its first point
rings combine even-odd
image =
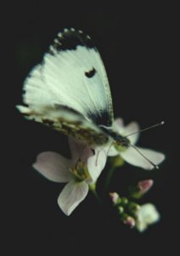
{"type": "MultiPolygon", "coordinates": [[[[115,131],[119,132],[121,136],[125,136],[125,137],[132,134],[135,131],[140,130],[138,123],[132,122],[129,125],[124,126],[122,119],[115,119],[113,128],[115,131]]],[[[132,146],[134,146],[137,143],[138,137],[139,137],[139,132],[128,137],[132,146]]],[[[143,154],[148,160],[150,160],[155,165],[159,165],[165,159],[164,154],[156,152],[155,150],[140,148],[137,146],[136,148],[141,154],[143,154]]],[[[143,169],[146,169],[146,170],[153,169],[155,166],[153,166],[148,160],[143,158],[143,156],[138,151],[131,146],[128,148],[122,148],[122,147],[116,148],[114,146],[110,148],[109,155],[115,156],[117,154],[120,154],[121,158],[127,161],[127,163],[131,164],[132,166],[142,167],[143,169]]]]}

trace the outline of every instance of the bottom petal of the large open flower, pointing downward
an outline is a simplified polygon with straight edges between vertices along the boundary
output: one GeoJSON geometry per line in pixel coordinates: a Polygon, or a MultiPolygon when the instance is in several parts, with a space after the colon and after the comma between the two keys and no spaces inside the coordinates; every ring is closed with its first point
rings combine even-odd
{"type": "Polygon", "coordinates": [[[77,183],[71,180],[59,195],[58,204],[61,210],[69,216],[71,212],[85,199],[88,185],[85,181],[77,183]]]}

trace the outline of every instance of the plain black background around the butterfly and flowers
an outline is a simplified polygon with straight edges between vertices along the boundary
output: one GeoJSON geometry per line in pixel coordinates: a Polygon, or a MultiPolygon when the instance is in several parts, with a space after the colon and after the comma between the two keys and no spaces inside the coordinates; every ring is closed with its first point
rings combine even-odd
{"type": "MultiPolygon", "coordinates": [[[[87,3],[88,4],[88,3],[87,3]]],[[[111,255],[175,255],[179,227],[178,176],[176,155],[178,108],[177,19],[175,8],[132,6],[122,8],[64,8],[60,4],[11,6],[3,18],[5,35],[5,83],[3,94],[4,129],[2,146],[5,160],[2,172],[5,213],[2,218],[3,244],[8,255],[70,255],[70,253],[111,253],[111,255]],[[66,137],[18,113],[23,81],[65,27],[87,32],[97,45],[110,80],[115,117],[141,127],[165,120],[166,125],[144,132],[139,145],[166,154],[159,171],[148,172],[124,166],[115,172],[110,190],[126,193],[127,185],[138,179],[153,178],[155,186],[144,198],[155,203],[161,221],[139,234],[121,224],[108,202],[100,207],[90,193],[67,218],[57,205],[62,184],[51,183],[31,168],[38,153],[57,151],[68,156],[66,137]],[[161,255],[161,254],[160,254],[161,255]]],[[[104,176],[99,178],[102,194],[104,176]]],[[[6,254],[4,254],[6,255],[6,254]]]]}

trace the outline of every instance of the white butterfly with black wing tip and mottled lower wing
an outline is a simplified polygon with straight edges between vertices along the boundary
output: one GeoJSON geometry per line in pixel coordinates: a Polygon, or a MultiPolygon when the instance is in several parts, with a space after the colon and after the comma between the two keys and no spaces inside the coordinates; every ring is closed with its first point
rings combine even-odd
{"type": "Polygon", "coordinates": [[[25,79],[27,119],[75,137],[89,145],[109,142],[128,147],[129,140],[112,129],[110,84],[92,39],[74,28],[59,32],[42,63],[25,79]]]}

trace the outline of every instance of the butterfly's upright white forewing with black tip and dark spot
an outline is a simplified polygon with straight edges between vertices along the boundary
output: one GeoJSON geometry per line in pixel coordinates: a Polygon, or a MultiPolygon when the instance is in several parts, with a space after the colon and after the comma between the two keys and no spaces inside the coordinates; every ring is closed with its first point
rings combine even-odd
{"type": "Polygon", "coordinates": [[[82,32],[59,33],[44,57],[44,77],[68,105],[93,122],[111,125],[112,102],[104,64],[92,40],[82,32]]]}

